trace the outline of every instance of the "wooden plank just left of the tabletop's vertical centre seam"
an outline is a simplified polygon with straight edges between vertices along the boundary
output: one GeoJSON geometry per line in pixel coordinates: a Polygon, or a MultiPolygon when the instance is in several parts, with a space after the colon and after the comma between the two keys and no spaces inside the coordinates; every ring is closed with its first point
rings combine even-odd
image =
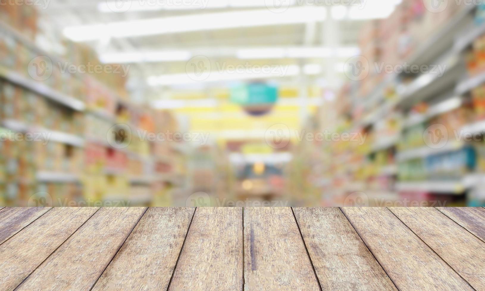
{"type": "Polygon", "coordinates": [[[197,208],[169,290],[242,290],[242,208],[197,208]]]}

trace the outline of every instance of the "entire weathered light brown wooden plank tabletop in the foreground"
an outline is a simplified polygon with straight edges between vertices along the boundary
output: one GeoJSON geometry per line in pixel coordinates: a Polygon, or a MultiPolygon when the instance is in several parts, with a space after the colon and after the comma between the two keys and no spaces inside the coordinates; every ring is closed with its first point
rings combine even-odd
{"type": "Polygon", "coordinates": [[[484,208],[3,208],[1,290],[485,290],[484,208]]]}

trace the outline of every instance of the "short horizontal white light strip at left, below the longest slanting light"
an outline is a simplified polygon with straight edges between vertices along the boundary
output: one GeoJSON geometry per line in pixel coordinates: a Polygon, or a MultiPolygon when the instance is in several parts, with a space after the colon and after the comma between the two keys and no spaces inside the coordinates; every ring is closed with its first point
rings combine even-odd
{"type": "Polygon", "coordinates": [[[103,63],[134,63],[188,61],[191,57],[192,54],[189,51],[122,52],[101,54],[99,60],[103,63]]]}

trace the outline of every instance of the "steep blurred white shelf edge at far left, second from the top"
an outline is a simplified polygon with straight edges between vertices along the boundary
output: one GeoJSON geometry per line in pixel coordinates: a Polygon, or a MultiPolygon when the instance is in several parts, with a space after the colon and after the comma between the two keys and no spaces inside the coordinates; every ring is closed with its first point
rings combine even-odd
{"type": "Polygon", "coordinates": [[[56,102],[65,107],[71,108],[73,110],[83,111],[85,109],[85,105],[81,100],[78,100],[74,97],[67,96],[63,93],[52,90],[42,83],[37,83],[34,80],[30,80],[26,77],[21,76],[16,72],[10,71],[1,66],[0,66],[0,78],[3,78],[29,91],[42,95],[53,102],[56,102]]]}

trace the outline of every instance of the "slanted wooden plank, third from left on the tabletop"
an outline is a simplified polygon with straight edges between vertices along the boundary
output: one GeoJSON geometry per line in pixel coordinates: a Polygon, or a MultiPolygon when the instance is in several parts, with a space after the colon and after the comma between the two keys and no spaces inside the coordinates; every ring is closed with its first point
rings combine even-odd
{"type": "Polygon", "coordinates": [[[146,208],[101,208],[16,290],[89,290],[146,208]]]}

